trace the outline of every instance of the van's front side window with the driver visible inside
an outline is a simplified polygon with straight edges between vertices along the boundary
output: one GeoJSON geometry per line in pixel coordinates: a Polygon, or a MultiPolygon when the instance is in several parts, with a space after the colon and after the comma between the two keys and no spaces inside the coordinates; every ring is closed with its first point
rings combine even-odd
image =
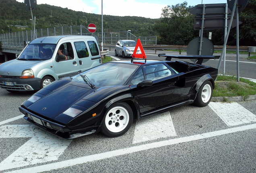
{"type": "Polygon", "coordinates": [[[60,47],[58,48],[58,52],[56,56],[58,55],[65,55],[65,56],[62,56],[62,59],[59,59],[59,61],[74,59],[74,51],[72,48],[72,44],[70,42],[61,44],[60,47]]]}

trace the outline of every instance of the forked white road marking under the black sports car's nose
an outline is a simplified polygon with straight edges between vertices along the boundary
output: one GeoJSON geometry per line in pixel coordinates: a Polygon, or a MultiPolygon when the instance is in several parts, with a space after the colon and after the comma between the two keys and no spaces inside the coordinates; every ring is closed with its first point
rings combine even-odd
{"type": "Polygon", "coordinates": [[[72,140],[61,139],[35,125],[4,125],[0,138],[31,138],[0,163],[0,171],[58,160],[72,140]]]}

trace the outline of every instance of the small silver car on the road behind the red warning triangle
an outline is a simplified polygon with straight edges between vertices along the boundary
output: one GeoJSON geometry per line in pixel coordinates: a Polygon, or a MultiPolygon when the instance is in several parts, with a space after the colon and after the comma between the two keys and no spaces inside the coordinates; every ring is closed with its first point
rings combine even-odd
{"type": "MultiPolygon", "coordinates": [[[[134,40],[119,40],[116,43],[115,55],[122,55],[123,58],[126,56],[132,56],[135,46],[136,42],[134,40]]],[[[138,48],[136,54],[141,54],[140,48],[138,48]]]]}

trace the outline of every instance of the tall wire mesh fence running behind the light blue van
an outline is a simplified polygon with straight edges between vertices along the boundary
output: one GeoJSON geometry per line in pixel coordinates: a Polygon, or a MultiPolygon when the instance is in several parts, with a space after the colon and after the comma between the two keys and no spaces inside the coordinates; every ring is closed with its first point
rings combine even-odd
{"type": "MultiPolygon", "coordinates": [[[[33,38],[33,31],[19,31],[19,32],[9,32],[0,34],[0,42],[2,42],[2,47],[8,48],[24,48],[33,38]]],[[[45,36],[58,36],[58,35],[91,35],[95,36],[99,45],[102,42],[102,33],[96,32],[91,33],[83,25],[77,26],[61,26],[54,28],[44,28],[35,30],[35,38],[45,37],[45,36]]],[[[118,40],[138,40],[142,44],[157,44],[157,37],[137,37],[129,31],[120,32],[103,32],[103,44],[116,44],[118,40]]]]}

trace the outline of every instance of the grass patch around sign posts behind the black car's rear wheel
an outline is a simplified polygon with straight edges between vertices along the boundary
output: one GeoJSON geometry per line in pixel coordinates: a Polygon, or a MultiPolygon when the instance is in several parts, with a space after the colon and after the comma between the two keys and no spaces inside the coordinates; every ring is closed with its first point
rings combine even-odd
{"type": "Polygon", "coordinates": [[[215,81],[215,89],[213,90],[213,97],[234,97],[242,96],[247,98],[248,95],[256,95],[256,83],[234,76],[218,76],[215,81]]]}

